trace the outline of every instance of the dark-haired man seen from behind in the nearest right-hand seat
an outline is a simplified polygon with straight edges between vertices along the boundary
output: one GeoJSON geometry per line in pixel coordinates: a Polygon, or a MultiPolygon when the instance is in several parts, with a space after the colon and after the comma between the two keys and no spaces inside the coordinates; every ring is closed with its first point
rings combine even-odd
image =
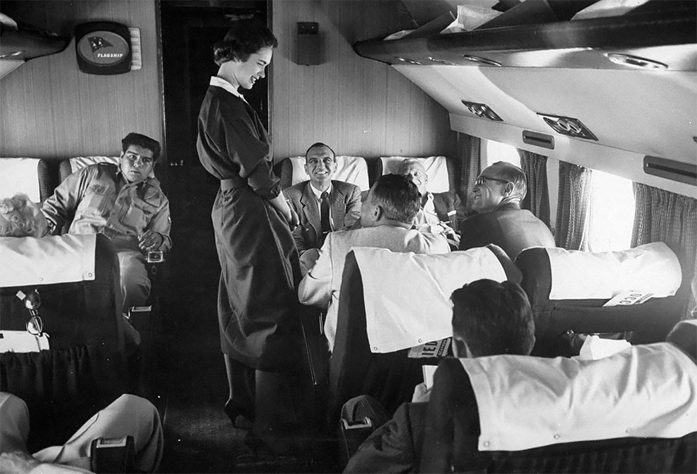
{"type": "MultiPolygon", "coordinates": [[[[525,291],[513,281],[478,280],[453,291],[453,353],[456,357],[528,355],[535,344],[535,323],[525,291]]],[[[356,397],[344,404],[341,418],[384,422],[360,444],[345,473],[408,473],[418,468],[428,390],[417,385],[414,401],[389,419],[377,400],[356,397]]]]}

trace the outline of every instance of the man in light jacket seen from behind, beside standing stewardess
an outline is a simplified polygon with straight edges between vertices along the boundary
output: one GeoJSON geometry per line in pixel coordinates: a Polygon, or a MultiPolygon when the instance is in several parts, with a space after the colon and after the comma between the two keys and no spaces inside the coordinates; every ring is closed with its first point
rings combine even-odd
{"type": "Polygon", "coordinates": [[[415,184],[398,174],[379,177],[360,212],[360,229],[329,233],[319,257],[301,280],[298,297],[304,305],[327,309],[325,335],[334,347],[337,307],[346,254],[353,247],[387,248],[392,252],[446,253],[446,239],[412,229],[419,210],[415,184]]]}

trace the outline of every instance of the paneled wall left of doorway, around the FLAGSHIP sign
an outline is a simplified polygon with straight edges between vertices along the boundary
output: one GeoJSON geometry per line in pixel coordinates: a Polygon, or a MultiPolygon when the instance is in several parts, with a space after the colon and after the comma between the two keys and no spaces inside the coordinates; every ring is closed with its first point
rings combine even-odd
{"type": "Polygon", "coordinates": [[[87,21],[139,27],[143,68],[121,75],[84,74],[77,68],[74,39],[65,51],[20,66],[0,82],[0,156],[115,155],[128,132],[162,141],[154,1],[25,1],[14,6],[16,20],[64,34],[87,21]]]}

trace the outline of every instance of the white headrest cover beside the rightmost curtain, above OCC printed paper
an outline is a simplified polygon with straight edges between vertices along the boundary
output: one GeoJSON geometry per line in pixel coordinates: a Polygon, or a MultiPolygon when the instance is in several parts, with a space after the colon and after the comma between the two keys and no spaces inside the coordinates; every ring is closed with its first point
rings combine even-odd
{"type": "Polygon", "coordinates": [[[682,282],[680,262],[663,242],[621,252],[545,250],[552,272],[550,300],[610,299],[623,291],[665,297],[682,282]]]}

